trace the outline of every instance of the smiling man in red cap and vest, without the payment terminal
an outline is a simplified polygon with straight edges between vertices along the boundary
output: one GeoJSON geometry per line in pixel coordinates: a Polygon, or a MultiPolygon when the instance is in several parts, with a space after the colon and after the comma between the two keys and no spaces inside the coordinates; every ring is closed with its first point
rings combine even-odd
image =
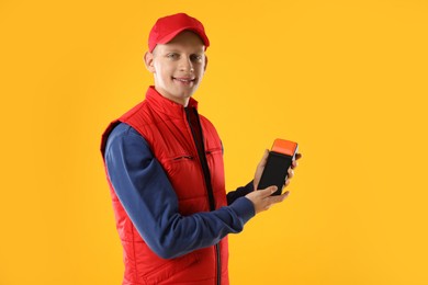
{"type": "Polygon", "coordinates": [[[144,57],[155,86],[103,135],[123,284],[228,284],[226,236],[288,195],[254,191],[268,151],[254,181],[226,195],[221,139],[192,99],[209,45],[196,19],[159,19],[144,57]]]}

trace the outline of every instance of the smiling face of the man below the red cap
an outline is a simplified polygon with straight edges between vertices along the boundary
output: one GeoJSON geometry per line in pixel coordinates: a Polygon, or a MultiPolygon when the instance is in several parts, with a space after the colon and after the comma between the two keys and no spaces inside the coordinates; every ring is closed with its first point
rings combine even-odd
{"type": "Polygon", "coordinates": [[[156,90],[184,106],[202,81],[206,61],[202,39],[189,31],[178,34],[168,44],[157,45],[153,53],[145,55],[156,90]]]}

